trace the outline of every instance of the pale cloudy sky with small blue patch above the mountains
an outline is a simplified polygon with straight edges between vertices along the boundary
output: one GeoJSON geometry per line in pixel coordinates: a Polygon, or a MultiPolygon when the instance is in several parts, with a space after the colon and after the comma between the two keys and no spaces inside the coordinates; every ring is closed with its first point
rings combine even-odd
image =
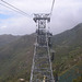
{"type": "MultiPolygon", "coordinates": [[[[23,10],[28,16],[21,15],[0,5],[0,34],[24,35],[34,33],[36,24],[33,13],[49,13],[52,0],[4,0],[23,10]]],[[[0,3],[3,3],[0,0],[0,3]]],[[[4,4],[4,3],[3,3],[4,4]]],[[[50,31],[54,34],[70,30],[82,23],[82,0],[56,0],[50,31]]]]}

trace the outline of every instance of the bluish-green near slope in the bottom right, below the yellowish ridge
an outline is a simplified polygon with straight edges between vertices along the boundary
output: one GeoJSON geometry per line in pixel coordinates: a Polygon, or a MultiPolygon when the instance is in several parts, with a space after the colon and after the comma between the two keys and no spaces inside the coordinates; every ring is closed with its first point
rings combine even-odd
{"type": "Polygon", "coordinates": [[[72,82],[74,79],[79,78],[82,74],[82,60],[79,61],[75,66],[71,67],[59,78],[59,82],[72,82]]]}

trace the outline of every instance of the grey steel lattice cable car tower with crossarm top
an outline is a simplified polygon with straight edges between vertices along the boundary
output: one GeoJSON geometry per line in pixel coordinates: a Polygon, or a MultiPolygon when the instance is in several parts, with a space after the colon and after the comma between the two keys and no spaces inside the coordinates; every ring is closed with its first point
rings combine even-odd
{"type": "Polygon", "coordinates": [[[54,82],[50,60],[50,37],[52,34],[47,31],[50,16],[49,14],[34,14],[34,21],[38,28],[36,30],[37,36],[30,82],[54,82]]]}

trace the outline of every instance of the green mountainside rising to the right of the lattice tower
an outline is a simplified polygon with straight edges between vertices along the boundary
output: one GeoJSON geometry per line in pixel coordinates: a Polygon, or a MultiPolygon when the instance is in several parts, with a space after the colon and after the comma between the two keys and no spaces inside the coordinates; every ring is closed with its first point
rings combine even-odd
{"type": "Polygon", "coordinates": [[[56,50],[52,63],[60,77],[59,82],[66,82],[65,75],[67,82],[72,82],[72,79],[82,74],[82,23],[55,35],[52,43],[56,50]]]}

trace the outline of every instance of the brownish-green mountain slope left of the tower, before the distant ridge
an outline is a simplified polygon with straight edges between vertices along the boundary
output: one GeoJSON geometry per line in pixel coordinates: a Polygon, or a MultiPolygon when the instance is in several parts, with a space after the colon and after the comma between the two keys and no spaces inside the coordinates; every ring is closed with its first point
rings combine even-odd
{"type": "Polygon", "coordinates": [[[25,35],[0,48],[0,82],[14,82],[14,79],[17,82],[24,74],[30,74],[27,71],[31,69],[34,40],[34,35],[25,35]]]}

